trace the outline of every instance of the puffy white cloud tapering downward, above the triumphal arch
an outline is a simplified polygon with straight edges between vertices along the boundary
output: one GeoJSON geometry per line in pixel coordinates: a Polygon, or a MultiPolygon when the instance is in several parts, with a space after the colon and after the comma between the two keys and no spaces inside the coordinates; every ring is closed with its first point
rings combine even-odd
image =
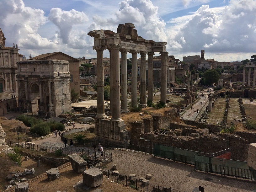
{"type": "Polygon", "coordinates": [[[58,27],[60,30],[60,38],[65,44],[69,42],[69,35],[72,30],[72,26],[76,24],[83,24],[88,21],[88,17],[84,12],[79,12],[74,9],[70,11],[63,11],[60,8],[52,8],[48,19],[58,27]]]}

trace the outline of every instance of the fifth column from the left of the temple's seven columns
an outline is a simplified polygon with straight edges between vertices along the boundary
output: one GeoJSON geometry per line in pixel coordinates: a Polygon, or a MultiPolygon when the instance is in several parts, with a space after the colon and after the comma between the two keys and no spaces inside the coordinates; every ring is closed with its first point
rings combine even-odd
{"type": "Polygon", "coordinates": [[[141,107],[147,107],[146,100],[146,53],[145,51],[140,52],[141,55],[141,107]]]}

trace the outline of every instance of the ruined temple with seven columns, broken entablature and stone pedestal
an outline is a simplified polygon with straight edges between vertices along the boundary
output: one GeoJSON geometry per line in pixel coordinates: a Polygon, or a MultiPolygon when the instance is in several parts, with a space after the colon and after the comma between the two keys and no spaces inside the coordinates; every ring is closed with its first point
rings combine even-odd
{"type": "Polygon", "coordinates": [[[137,106],[137,54],[141,57],[140,106],[146,107],[146,54],[148,55],[148,100],[153,101],[153,55],[160,52],[161,64],[161,102],[166,103],[167,59],[166,42],[145,40],[137,35],[132,23],[119,24],[117,33],[110,30],[93,30],[88,35],[94,37],[93,49],[97,54],[97,115],[95,133],[101,138],[112,141],[129,142],[130,137],[121,120],[121,111],[128,112],[127,107],[127,63],[126,54],[132,54],[131,104],[137,106]],[[104,67],[103,51],[108,49],[110,57],[110,110],[112,118],[104,112],[104,67]],[[121,52],[121,103],[120,103],[120,61],[121,52]]]}

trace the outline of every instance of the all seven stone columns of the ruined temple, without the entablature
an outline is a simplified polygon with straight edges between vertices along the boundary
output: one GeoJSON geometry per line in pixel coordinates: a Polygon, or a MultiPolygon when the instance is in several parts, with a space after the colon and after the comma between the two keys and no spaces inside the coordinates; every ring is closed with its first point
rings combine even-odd
{"type": "MultiPolygon", "coordinates": [[[[121,121],[121,111],[128,112],[127,102],[127,52],[132,54],[132,84],[131,84],[131,105],[137,106],[137,54],[141,55],[141,97],[140,106],[147,106],[146,99],[146,54],[148,54],[148,100],[153,101],[153,55],[154,52],[136,51],[121,49],[119,45],[93,46],[97,52],[97,115],[96,118],[106,118],[104,112],[104,66],[103,51],[110,53],[110,110],[112,121],[121,121]],[[120,66],[119,51],[121,52],[121,104],[120,104],[120,66]]],[[[166,103],[167,88],[167,58],[168,52],[160,52],[162,57],[161,65],[161,101],[166,103]]]]}

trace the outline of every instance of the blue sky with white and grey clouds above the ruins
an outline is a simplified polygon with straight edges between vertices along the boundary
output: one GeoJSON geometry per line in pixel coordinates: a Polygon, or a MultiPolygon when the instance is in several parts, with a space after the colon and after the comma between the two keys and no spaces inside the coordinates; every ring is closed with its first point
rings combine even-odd
{"type": "Polygon", "coordinates": [[[201,50],[216,61],[256,54],[256,0],[0,0],[5,46],[17,43],[27,58],[57,51],[96,58],[87,33],[117,32],[125,23],[144,39],[167,42],[166,51],[180,61],[201,50]]]}

